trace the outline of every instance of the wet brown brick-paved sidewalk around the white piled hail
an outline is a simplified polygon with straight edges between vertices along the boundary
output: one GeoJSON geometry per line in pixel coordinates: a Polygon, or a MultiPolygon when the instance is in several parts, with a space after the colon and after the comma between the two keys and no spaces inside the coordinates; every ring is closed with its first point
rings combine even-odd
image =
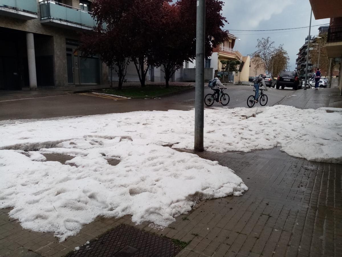
{"type": "MultiPolygon", "coordinates": [[[[342,107],[336,88],[298,90],[280,104],[299,108],[342,107]],[[330,95],[330,96],[329,96],[330,95]]],[[[250,153],[197,153],[236,171],[249,187],[240,197],[200,202],[168,228],[144,222],[136,228],[191,241],[182,256],[340,256],[342,252],[342,165],[306,161],[280,148],[250,153]]],[[[64,162],[60,155],[49,160],[64,162]]],[[[116,163],[113,162],[112,165],[116,163]]],[[[97,218],[59,243],[52,233],[23,229],[0,210],[0,256],[63,256],[130,216],[97,218]]]]}

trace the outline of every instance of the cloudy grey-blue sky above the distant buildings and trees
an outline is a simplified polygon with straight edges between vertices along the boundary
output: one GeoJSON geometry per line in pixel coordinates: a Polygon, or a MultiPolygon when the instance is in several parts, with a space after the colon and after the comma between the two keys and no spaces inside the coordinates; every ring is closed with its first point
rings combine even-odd
{"type": "MultiPolygon", "coordinates": [[[[311,5],[309,0],[223,0],[223,16],[229,24],[226,29],[279,29],[308,26],[310,22],[311,5]]],[[[315,20],[312,15],[312,26],[329,23],[329,19],[315,20]]],[[[309,29],[271,32],[234,32],[241,40],[236,41],[235,49],[246,56],[255,51],[258,38],[271,37],[275,46],[284,44],[290,56],[290,68],[295,68],[296,54],[304,44],[309,29]],[[249,35],[246,35],[249,34],[249,35]],[[250,35],[255,34],[255,35],[250,35]]],[[[311,28],[311,35],[318,34],[318,26],[311,28]]]]}

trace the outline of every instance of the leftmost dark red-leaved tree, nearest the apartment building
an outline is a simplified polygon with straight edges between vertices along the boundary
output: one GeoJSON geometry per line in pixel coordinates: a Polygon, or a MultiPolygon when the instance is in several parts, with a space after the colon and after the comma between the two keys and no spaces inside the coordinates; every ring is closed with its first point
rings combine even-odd
{"type": "Polygon", "coordinates": [[[98,26],[93,33],[81,36],[79,47],[83,56],[100,54],[101,60],[117,72],[119,89],[122,88],[129,64],[132,41],[129,33],[122,29],[126,24],[131,10],[131,3],[127,0],[94,0],[93,18],[98,26]],[[106,26],[106,29],[103,29],[106,26]]]}

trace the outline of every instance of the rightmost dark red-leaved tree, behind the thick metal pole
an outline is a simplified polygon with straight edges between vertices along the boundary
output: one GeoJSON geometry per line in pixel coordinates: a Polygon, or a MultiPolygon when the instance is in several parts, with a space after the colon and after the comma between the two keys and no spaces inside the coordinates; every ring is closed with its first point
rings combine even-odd
{"type": "MultiPolygon", "coordinates": [[[[206,0],[205,56],[227,37],[222,30],[226,18],[221,15],[223,2],[206,0]]],[[[165,72],[166,86],[184,61],[196,57],[196,0],[179,0],[175,4],[165,2],[163,20],[159,28],[159,44],[153,48],[153,63],[165,72]]]]}

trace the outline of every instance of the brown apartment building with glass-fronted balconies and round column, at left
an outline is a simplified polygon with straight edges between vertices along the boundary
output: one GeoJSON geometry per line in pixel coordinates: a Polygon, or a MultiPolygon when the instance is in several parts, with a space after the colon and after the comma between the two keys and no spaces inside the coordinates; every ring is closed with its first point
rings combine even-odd
{"type": "Polygon", "coordinates": [[[0,0],[0,89],[108,83],[99,56],[82,57],[81,33],[96,25],[92,1],[0,0]]]}

